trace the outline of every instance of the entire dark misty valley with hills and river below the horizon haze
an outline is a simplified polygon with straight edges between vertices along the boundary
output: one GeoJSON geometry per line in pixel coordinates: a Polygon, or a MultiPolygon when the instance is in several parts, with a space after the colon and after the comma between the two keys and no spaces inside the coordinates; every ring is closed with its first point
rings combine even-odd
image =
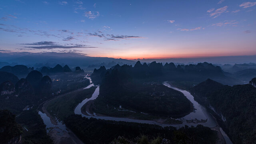
{"type": "Polygon", "coordinates": [[[137,61],[94,71],[3,66],[1,141],[254,143],[256,76],[249,72],[243,84],[245,75],[236,74],[255,65],[137,61]]]}

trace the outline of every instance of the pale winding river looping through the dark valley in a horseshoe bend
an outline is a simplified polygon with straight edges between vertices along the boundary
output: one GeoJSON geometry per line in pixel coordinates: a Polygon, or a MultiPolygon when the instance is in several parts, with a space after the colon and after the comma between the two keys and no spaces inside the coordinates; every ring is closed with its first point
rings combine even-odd
{"type": "MultiPolygon", "coordinates": [[[[91,79],[89,77],[86,77],[91,81],[91,79]]],[[[173,88],[175,90],[178,90],[180,92],[182,92],[186,98],[188,98],[188,100],[190,100],[193,105],[194,105],[194,112],[190,112],[190,114],[186,115],[186,116],[183,116],[182,118],[179,118],[178,120],[182,121],[183,123],[182,124],[161,124],[161,123],[158,123],[158,122],[155,122],[155,121],[152,121],[152,120],[136,120],[136,119],[131,119],[131,118],[117,118],[117,117],[111,117],[111,116],[96,116],[95,114],[94,115],[91,115],[89,114],[88,112],[88,115],[85,115],[85,114],[82,114],[82,106],[84,106],[84,104],[86,104],[87,102],[89,102],[90,100],[95,100],[99,93],[100,93],[100,86],[97,86],[96,90],[94,91],[94,93],[92,94],[92,97],[91,98],[86,98],[84,99],[81,103],[79,103],[75,110],[74,110],[74,113],[75,114],[81,114],[83,117],[86,117],[86,118],[97,118],[97,119],[102,119],[102,120],[115,120],[115,121],[124,121],[124,122],[137,122],[137,123],[145,123],[145,124],[157,124],[157,125],[160,125],[162,127],[165,127],[165,126],[174,126],[176,128],[181,128],[185,125],[187,126],[197,126],[198,124],[202,124],[203,126],[207,126],[207,127],[215,127],[217,126],[217,123],[216,121],[214,120],[214,118],[212,117],[212,115],[210,115],[207,111],[206,111],[206,108],[200,104],[198,104],[198,102],[196,102],[194,100],[194,97],[190,94],[190,92],[186,91],[186,90],[180,90],[178,88],[175,88],[173,86],[171,86],[170,84],[168,84],[168,82],[163,82],[163,85],[165,86],[168,86],[169,88],[173,88]],[[186,120],[194,120],[194,119],[198,119],[198,120],[206,120],[206,122],[203,122],[203,123],[188,123],[186,120]]],[[[96,86],[94,84],[90,84],[89,86],[87,86],[86,88],[90,88],[92,86],[96,86]]],[[[86,89],[84,88],[84,89],[86,89]]],[[[43,114],[42,112],[39,112],[40,116],[43,118],[44,120],[44,123],[46,124],[46,128],[50,128],[50,127],[53,127],[53,124],[50,122],[50,118],[46,115],[46,114],[43,114]]],[[[57,130],[58,132],[60,132],[61,130],[66,130],[66,126],[64,124],[61,124],[61,123],[58,123],[57,126],[55,126],[55,130],[57,130]],[[57,127],[57,128],[56,128],[57,127]],[[60,129],[60,130],[58,130],[60,129]]],[[[222,136],[224,137],[225,141],[226,141],[226,144],[232,144],[231,140],[228,138],[227,134],[222,130],[222,128],[220,128],[220,132],[222,133],[222,136]]],[[[61,134],[61,132],[60,132],[61,134]]]]}

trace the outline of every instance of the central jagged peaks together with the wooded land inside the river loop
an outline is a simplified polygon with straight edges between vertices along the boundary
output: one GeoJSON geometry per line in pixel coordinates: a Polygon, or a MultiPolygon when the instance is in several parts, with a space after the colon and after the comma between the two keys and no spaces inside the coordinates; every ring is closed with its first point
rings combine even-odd
{"type": "Polygon", "coordinates": [[[212,64],[178,65],[152,62],[104,66],[92,73],[94,84],[100,84],[100,95],[94,102],[94,111],[112,115],[109,107],[144,112],[158,116],[178,117],[192,111],[189,100],[180,92],[162,85],[166,80],[188,80],[198,83],[206,77],[226,78],[221,68],[212,64]]]}

